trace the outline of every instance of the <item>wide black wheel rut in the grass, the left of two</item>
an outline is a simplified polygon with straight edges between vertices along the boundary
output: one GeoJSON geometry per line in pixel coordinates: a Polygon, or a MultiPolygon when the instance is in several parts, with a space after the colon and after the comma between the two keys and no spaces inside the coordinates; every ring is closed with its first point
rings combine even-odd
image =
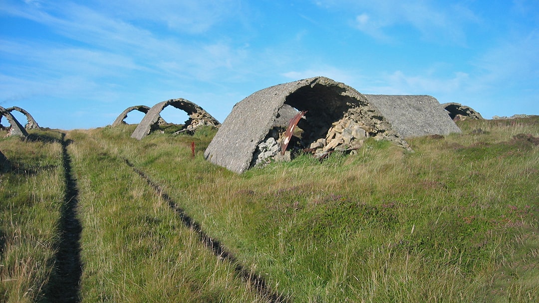
{"type": "MultiPolygon", "coordinates": [[[[54,245],[54,268],[49,282],[44,288],[44,295],[40,302],[79,302],[79,284],[82,275],[80,260],[80,233],[82,226],[77,219],[77,205],[79,191],[77,182],[73,178],[71,159],[67,154],[67,145],[70,140],[64,140],[61,135],[62,161],[66,194],[61,208],[61,217],[58,223],[59,239],[54,245]]],[[[55,139],[56,140],[56,139],[55,139]]]]}

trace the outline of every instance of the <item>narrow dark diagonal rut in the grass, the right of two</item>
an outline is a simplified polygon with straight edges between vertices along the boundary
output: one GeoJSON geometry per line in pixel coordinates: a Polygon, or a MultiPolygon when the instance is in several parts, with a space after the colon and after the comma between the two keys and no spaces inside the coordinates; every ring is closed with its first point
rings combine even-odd
{"type": "Polygon", "coordinates": [[[200,239],[200,241],[211,251],[213,252],[213,255],[215,255],[218,258],[223,258],[228,260],[232,265],[234,265],[234,270],[236,273],[243,279],[247,280],[248,283],[251,285],[254,285],[256,290],[261,294],[264,298],[267,298],[270,302],[275,303],[285,303],[289,302],[287,298],[285,298],[283,295],[278,294],[277,292],[273,291],[266,283],[265,279],[261,277],[260,275],[246,269],[243,265],[241,265],[238,262],[238,259],[232,255],[231,252],[227,251],[225,249],[225,246],[221,244],[217,239],[211,238],[208,234],[206,234],[203,230],[201,225],[196,222],[192,217],[185,214],[185,211],[177,205],[177,203],[170,198],[170,196],[163,191],[161,186],[156,184],[154,181],[152,181],[146,174],[144,174],[141,170],[136,168],[132,163],[130,163],[126,159],[126,163],[128,166],[132,167],[133,170],[139,174],[148,184],[155,189],[155,191],[161,195],[161,198],[163,198],[164,201],[166,201],[169,205],[169,207],[174,210],[176,214],[178,214],[179,218],[182,220],[184,225],[192,230],[194,230],[200,239]]]}

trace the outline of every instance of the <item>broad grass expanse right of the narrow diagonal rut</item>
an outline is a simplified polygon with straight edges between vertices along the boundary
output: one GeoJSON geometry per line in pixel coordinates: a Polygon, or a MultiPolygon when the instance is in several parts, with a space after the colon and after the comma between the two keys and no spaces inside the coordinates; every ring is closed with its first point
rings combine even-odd
{"type": "Polygon", "coordinates": [[[353,157],[320,164],[305,156],[242,175],[178,160],[186,147],[157,143],[165,137],[132,148],[159,146],[136,152],[138,164],[294,301],[505,301],[517,293],[526,302],[538,285],[515,272],[537,272],[539,161],[537,146],[514,136],[539,136],[536,118],[512,123],[462,122],[463,135],[410,139],[414,153],[368,142],[353,157]],[[522,256],[525,265],[507,266],[522,256]]]}

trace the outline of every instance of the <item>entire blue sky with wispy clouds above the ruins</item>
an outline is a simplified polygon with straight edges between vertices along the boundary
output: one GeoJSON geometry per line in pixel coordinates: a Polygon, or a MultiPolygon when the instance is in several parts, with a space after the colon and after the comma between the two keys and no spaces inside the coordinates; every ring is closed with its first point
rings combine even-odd
{"type": "Polygon", "coordinates": [[[40,126],[105,126],[170,98],[223,122],[254,91],[313,76],[539,115],[539,2],[0,0],[0,105],[40,126]]]}

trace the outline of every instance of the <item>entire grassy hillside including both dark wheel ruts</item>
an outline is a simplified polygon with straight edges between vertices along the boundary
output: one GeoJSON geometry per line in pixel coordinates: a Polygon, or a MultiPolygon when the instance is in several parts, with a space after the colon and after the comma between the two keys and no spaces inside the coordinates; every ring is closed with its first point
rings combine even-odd
{"type": "Polygon", "coordinates": [[[0,300],[538,302],[539,117],[458,125],[241,175],[212,129],[0,139],[0,300]]]}

